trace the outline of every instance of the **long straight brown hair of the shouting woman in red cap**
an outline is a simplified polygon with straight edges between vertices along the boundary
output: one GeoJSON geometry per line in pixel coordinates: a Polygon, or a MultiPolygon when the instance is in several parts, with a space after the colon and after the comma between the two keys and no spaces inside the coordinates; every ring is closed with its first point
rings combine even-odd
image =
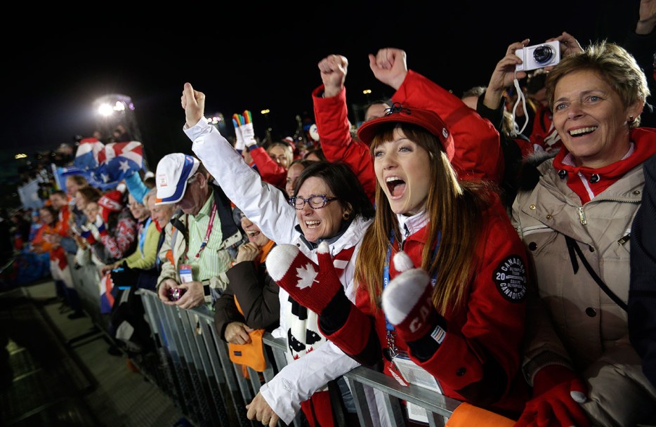
{"type": "MultiPolygon", "coordinates": [[[[442,314],[447,307],[466,303],[466,294],[475,270],[475,247],[480,234],[480,212],[489,204],[480,182],[459,182],[440,140],[420,126],[406,123],[385,124],[374,137],[370,151],[393,139],[395,128],[423,148],[433,159],[426,179],[430,190],[426,199],[426,242],[421,256],[421,268],[428,275],[437,274],[433,289],[433,305],[442,314]],[[440,238],[440,247],[433,258],[433,249],[440,238]]],[[[390,233],[400,242],[399,224],[381,186],[376,185],[376,215],[365,232],[355,263],[355,279],[369,292],[372,307],[379,306],[382,292],[383,264],[390,244],[390,233]]],[[[419,265],[418,265],[419,267],[419,265]]]]}

